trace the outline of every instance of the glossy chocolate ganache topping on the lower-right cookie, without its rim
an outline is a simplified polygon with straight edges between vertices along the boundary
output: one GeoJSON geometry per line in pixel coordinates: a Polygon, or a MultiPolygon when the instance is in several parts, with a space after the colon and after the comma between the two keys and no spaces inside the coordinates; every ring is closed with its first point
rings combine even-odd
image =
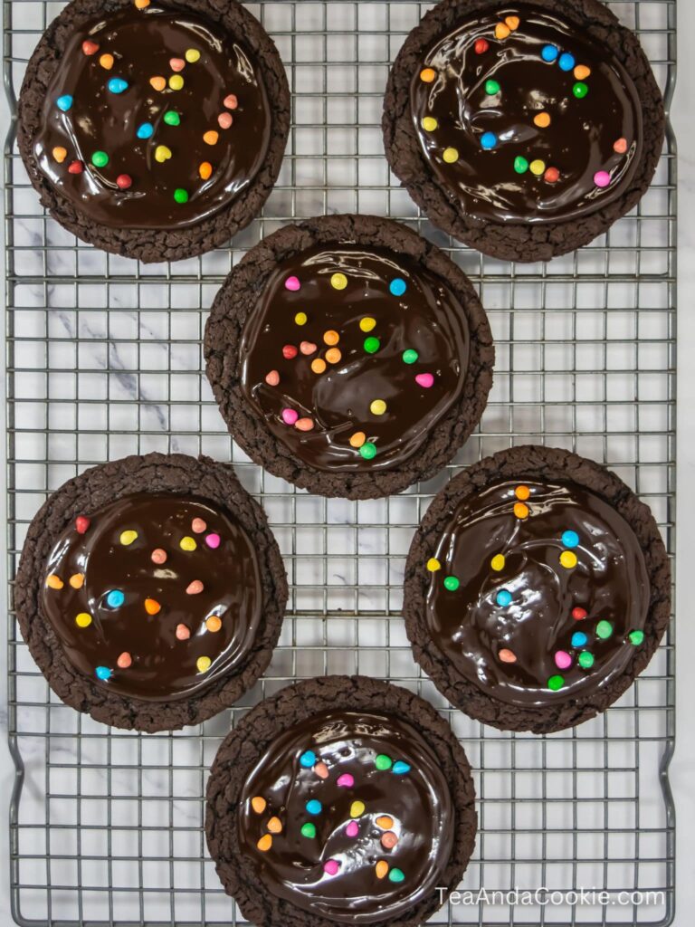
{"type": "Polygon", "coordinates": [[[638,540],[575,484],[501,482],[469,497],[427,569],[433,641],[510,705],[597,692],[644,640],[650,582],[638,540]]]}

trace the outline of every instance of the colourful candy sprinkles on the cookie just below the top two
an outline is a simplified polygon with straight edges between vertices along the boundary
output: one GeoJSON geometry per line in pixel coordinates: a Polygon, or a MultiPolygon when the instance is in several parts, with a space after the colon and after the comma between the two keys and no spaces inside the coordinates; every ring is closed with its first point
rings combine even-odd
{"type": "MultiPolygon", "coordinates": [[[[348,283],[349,281],[345,273],[334,273],[331,276],[331,286],[333,286],[335,290],[347,289],[348,283]]],[[[297,276],[288,276],[284,281],[284,287],[290,292],[296,293],[301,289],[301,282],[297,276]]],[[[388,285],[389,293],[396,298],[403,296],[407,289],[408,284],[402,277],[394,277],[388,285]]],[[[308,323],[310,323],[310,317],[307,312],[297,312],[295,315],[295,324],[297,324],[297,328],[301,330],[308,323]]],[[[365,354],[377,354],[382,347],[381,337],[378,335],[377,320],[371,315],[364,315],[360,319],[359,324],[361,349],[365,354]],[[374,332],[375,334],[372,334],[374,332]]],[[[297,332],[297,339],[299,335],[300,332],[297,332]]],[[[341,341],[338,332],[334,329],[324,331],[321,340],[322,345],[325,347],[320,347],[316,342],[309,340],[299,340],[298,345],[286,344],[282,349],[283,357],[288,361],[294,360],[295,358],[301,360],[302,356],[312,357],[313,360],[310,364],[311,371],[315,375],[321,376],[325,374],[331,366],[335,366],[335,364],[343,360],[343,351],[338,347],[341,341]]],[[[405,364],[411,365],[418,360],[419,355],[415,349],[406,349],[401,354],[401,361],[405,364]]],[[[418,374],[414,374],[413,380],[417,386],[423,389],[430,389],[435,385],[435,375],[428,371],[421,371],[418,374]]],[[[280,372],[274,369],[270,370],[265,375],[265,382],[269,387],[282,386],[280,372]]],[[[369,430],[372,425],[375,425],[382,415],[388,412],[388,405],[385,400],[376,396],[370,401],[369,409],[370,413],[373,415],[373,420],[365,423],[364,427],[367,430],[369,430]]],[[[294,427],[297,431],[312,431],[316,425],[316,422],[310,415],[304,414],[302,410],[297,412],[297,409],[293,409],[291,406],[285,406],[280,415],[285,425],[294,427]]],[[[348,438],[348,443],[351,448],[360,453],[360,456],[364,460],[373,460],[378,449],[374,441],[368,440],[367,430],[353,432],[348,438]]]]}

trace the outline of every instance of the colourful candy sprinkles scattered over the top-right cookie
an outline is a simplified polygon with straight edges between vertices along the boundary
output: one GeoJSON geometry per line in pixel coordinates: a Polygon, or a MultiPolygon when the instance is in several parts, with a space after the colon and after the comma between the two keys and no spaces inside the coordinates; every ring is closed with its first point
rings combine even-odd
{"type": "MultiPolygon", "coordinates": [[[[508,16],[503,21],[500,21],[495,26],[494,38],[499,42],[499,44],[504,44],[505,40],[508,39],[513,32],[519,28],[520,19],[517,16],[508,16]]],[[[492,41],[492,36],[490,36],[490,41],[492,41]]],[[[474,42],[474,53],[477,56],[484,56],[490,51],[491,45],[487,39],[478,38],[474,42]]],[[[568,51],[562,51],[561,48],[558,48],[557,45],[546,44],[540,50],[540,57],[548,65],[555,66],[565,72],[568,77],[572,75],[570,79],[574,79],[572,84],[572,95],[576,100],[583,100],[589,93],[589,85],[586,83],[587,79],[591,76],[591,69],[588,65],[577,64],[575,56],[568,51]]],[[[495,54],[491,56],[491,61],[493,66],[497,64],[499,58],[495,54]]],[[[423,83],[435,83],[437,79],[436,70],[432,67],[423,68],[420,71],[420,80],[423,83]]],[[[486,97],[495,107],[501,108],[504,106],[504,87],[499,83],[499,81],[494,78],[488,78],[484,84],[486,97]]],[[[581,118],[581,115],[580,115],[581,118]]],[[[533,123],[537,129],[547,129],[552,122],[552,115],[546,109],[539,109],[533,116],[533,123]]],[[[438,122],[434,116],[424,116],[421,120],[421,125],[425,132],[435,132],[438,128],[438,122]]],[[[484,132],[480,133],[478,136],[478,141],[480,146],[485,151],[493,151],[498,148],[500,144],[503,143],[503,139],[499,138],[499,135],[494,132],[484,132]]],[[[616,154],[624,155],[627,151],[628,143],[625,138],[618,138],[613,144],[613,151],[616,154]]],[[[455,164],[459,158],[460,154],[457,148],[446,147],[441,152],[441,158],[447,164],[455,164]]],[[[512,162],[513,171],[517,174],[525,174],[530,171],[535,177],[542,177],[547,184],[557,184],[562,177],[562,171],[553,166],[548,165],[541,158],[535,158],[533,152],[529,152],[528,157],[523,155],[518,155],[513,159],[512,162]]],[[[604,188],[610,186],[613,181],[613,173],[611,171],[596,171],[594,174],[594,184],[599,188],[604,188]]]]}

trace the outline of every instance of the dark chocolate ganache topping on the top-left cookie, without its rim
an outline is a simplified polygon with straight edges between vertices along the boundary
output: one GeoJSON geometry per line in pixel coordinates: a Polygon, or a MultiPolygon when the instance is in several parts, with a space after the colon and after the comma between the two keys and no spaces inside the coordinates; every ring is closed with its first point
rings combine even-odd
{"type": "Polygon", "coordinates": [[[228,205],[266,156],[271,115],[240,37],[141,3],[69,39],[34,154],[94,222],[184,228],[228,205]]]}

